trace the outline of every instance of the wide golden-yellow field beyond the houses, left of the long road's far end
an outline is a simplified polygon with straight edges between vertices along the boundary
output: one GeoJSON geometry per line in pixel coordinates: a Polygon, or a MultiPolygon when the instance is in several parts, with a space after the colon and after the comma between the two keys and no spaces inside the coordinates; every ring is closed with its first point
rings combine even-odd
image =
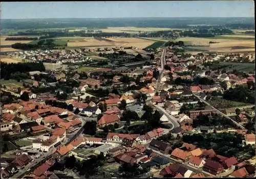
{"type": "Polygon", "coordinates": [[[133,46],[137,48],[144,48],[148,45],[153,44],[154,41],[146,40],[146,39],[138,39],[138,38],[106,38],[98,40],[95,38],[87,38],[83,40],[70,40],[68,42],[68,46],[75,47],[75,46],[84,46],[84,47],[115,47],[115,46],[133,46]]]}

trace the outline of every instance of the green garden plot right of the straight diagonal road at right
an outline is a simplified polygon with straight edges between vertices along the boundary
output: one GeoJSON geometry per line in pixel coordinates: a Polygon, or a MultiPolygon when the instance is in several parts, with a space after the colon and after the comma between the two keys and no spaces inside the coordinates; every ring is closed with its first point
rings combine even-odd
{"type": "Polygon", "coordinates": [[[238,101],[226,100],[226,99],[223,99],[220,97],[212,97],[207,102],[217,109],[235,108],[235,107],[252,105],[252,104],[248,104],[248,103],[241,103],[238,101]]]}

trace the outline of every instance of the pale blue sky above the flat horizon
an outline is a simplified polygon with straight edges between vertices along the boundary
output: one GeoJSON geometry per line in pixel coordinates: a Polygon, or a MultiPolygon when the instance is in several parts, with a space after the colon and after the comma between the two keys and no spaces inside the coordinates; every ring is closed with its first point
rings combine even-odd
{"type": "Polygon", "coordinates": [[[253,1],[2,2],[1,19],[254,17],[253,1]]]}

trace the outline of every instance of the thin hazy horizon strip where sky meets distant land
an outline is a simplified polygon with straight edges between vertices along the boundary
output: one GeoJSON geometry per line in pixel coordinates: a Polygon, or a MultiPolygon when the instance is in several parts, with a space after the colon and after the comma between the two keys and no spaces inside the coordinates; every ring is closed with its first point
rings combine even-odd
{"type": "Polygon", "coordinates": [[[251,17],[47,17],[47,18],[1,18],[1,20],[25,20],[25,19],[121,19],[121,18],[255,18],[251,17]]]}

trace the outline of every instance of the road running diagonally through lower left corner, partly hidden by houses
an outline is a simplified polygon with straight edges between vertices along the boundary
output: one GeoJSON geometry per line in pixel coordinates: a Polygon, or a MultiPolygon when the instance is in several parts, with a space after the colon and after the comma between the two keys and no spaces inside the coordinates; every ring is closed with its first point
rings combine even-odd
{"type": "MultiPolygon", "coordinates": [[[[79,136],[83,132],[83,126],[76,131],[76,133],[73,134],[71,138],[67,141],[66,145],[68,145],[70,142],[72,142],[77,136],[79,136]]],[[[10,178],[21,178],[23,175],[30,173],[33,171],[36,167],[41,165],[42,163],[46,162],[48,159],[52,157],[52,151],[48,151],[46,153],[43,153],[38,159],[34,159],[32,163],[27,165],[25,168],[20,169],[16,174],[11,176],[10,178]],[[27,171],[30,169],[29,171],[27,171]]]]}

